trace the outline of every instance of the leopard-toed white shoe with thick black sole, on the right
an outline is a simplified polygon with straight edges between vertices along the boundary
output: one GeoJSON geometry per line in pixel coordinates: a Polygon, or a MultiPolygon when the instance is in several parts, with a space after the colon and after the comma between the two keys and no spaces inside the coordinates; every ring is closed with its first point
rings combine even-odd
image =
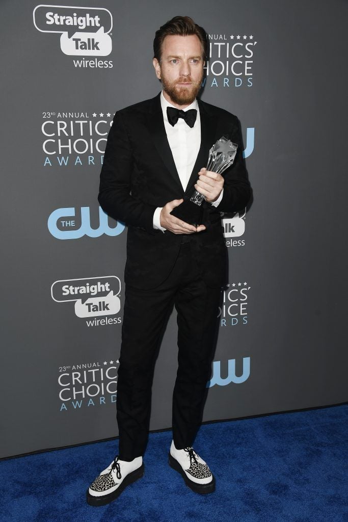
{"type": "Polygon", "coordinates": [[[186,485],[196,493],[215,491],[215,478],[212,472],[193,448],[176,449],[172,441],[169,465],[181,474],[186,485]]]}

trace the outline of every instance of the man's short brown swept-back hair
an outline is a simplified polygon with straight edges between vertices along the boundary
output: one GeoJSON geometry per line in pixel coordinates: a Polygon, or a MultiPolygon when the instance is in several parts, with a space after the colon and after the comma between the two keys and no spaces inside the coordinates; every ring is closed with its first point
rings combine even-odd
{"type": "Polygon", "coordinates": [[[155,33],[153,40],[153,57],[161,61],[162,43],[166,36],[171,34],[178,34],[180,36],[188,36],[190,34],[196,34],[199,38],[203,48],[203,60],[207,60],[207,33],[206,31],[197,25],[189,16],[174,16],[171,20],[167,21],[162,27],[155,33]]]}

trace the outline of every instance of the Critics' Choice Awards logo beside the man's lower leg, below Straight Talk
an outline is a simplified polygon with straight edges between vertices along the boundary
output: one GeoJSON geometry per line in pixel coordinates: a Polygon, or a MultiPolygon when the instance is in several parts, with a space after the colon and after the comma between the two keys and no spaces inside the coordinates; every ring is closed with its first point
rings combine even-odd
{"type": "Polygon", "coordinates": [[[59,366],[59,410],[79,410],[115,403],[118,363],[117,360],[59,366]]]}

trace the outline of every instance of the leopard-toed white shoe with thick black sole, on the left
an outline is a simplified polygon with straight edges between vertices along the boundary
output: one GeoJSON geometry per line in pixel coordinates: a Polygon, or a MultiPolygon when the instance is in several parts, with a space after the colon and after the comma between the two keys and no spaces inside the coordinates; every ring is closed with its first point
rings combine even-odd
{"type": "Polygon", "coordinates": [[[142,457],[131,462],[119,460],[118,455],[110,466],[104,469],[87,490],[87,503],[90,506],[105,506],[117,499],[122,491],[144,474],[142,457]]]}

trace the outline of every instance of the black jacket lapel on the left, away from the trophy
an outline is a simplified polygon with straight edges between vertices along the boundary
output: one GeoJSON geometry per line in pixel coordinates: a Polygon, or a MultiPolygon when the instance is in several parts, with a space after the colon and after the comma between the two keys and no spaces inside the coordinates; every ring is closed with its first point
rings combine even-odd
{"type": "Polygon", "coordinates": [[[160,94],[153,99],[153,105],[148,114],[147,127],[163,163],[171,173],[174,181],[183,190],[164,128],[160,94]]]}

